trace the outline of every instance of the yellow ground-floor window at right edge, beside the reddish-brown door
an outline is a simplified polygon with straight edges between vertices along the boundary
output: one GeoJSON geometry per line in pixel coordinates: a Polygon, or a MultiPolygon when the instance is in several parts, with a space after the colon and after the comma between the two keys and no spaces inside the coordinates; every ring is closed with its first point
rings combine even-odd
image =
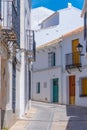
{"type": "Polygon", "coordinates": [[[87,78],[81,79],[81,96],[87,96],[87,78]]]}

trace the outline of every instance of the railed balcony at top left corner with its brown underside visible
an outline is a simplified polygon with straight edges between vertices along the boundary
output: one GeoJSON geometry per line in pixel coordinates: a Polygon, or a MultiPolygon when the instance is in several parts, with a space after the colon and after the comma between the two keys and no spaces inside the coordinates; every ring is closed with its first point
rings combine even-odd
{"type": "Polygon", "coordinates": [[[5,39],[6,42],[19,41],[19,19],[20,16],[18,16],[12,1],[0,2],[1,36],[5,39]]]}

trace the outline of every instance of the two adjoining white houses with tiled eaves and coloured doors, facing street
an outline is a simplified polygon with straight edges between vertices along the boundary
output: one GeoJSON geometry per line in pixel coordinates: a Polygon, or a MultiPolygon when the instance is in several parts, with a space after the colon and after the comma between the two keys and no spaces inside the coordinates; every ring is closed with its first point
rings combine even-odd
{"type": "Polygon", "coordinates": [[[85,46],[83,27],[37,48],[33,100],[87,106],[87,61],[77,52],[79,42],[85,46]]]}

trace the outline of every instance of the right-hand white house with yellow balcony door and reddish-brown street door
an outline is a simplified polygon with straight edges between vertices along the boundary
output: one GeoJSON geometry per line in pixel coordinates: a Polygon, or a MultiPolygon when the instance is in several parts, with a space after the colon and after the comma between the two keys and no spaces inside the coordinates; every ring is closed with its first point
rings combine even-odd
{"type": "Polygon", "coordinates": [[[79,43],[85,46],[83,27],[63,36],[63,104],[87,106],[87,61],[77,51],[79,43]]]}

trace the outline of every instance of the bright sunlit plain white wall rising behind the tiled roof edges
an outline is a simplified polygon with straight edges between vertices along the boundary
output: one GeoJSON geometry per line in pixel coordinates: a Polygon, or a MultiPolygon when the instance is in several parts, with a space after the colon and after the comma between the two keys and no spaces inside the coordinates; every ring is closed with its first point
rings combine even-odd
{"type": "Polygon", "coordinates": [[[80,15],[81,10],[74,7],[59,10],[58,25],[35,31],[36,45],[39,46],[55,40],[58,37],[61,37],[62,35],[83,26],[84,21],[80,15]]]}

